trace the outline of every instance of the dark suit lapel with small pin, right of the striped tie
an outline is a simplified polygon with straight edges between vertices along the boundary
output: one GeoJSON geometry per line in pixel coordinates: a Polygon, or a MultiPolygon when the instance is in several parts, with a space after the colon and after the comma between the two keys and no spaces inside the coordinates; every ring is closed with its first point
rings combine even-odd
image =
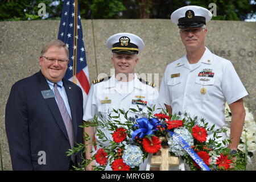
{"type": "Polygon", "coordinates": [[[76,119],[76,102],[75,102],[75,91],[73,85],[71,85],[67,80],[63,79],[63,85],[68,96],[68,104],[71,110],[71,117],[72,117],[72,125],[74,131],[75,141],[77,138],[77,119],[76,119]]]}

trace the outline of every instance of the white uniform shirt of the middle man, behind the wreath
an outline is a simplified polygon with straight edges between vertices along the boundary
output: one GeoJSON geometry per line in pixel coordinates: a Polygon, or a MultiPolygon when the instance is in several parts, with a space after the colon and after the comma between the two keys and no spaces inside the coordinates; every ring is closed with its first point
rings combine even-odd
{"type": "MultiPolygon", "coordinates": [[[[138,110],[137,105],[132,104],[132,100],[138,99],[136,96],[142,96],[144,98],[141,99],[143,101],[147,101],[147,105],[138,105],[144,113],[147,113],[147,107],[153,107],[156,104],[158,90],[139,81],[136,75],[134,79],[129,82],[118,81],[114,76],[112,76],[109,80],[93,84],[90,88],[86,101],[83,120],[89,121],[89,119],[93,119],[95,114],[98,116],[102,114],[102,117],[107,120],[110,113],[112,116],[117,115],[114,113],[113,109],[124,109],[125,111],[128,111],[129,108],[134,108],[138,110]],[[111,103],[105,104],[104,100],[110,100],[111,103]]],[[[133,111],[129,111],[127,117],[135,118],[135,115],[138,115],[139,118],[143,117],[143,115],[139,115],[133,111]]],[[[123,115],[120,114],[120,116],[121,122],[126,122],[123,115]]],[[[112,139],[112,135],[110,133],[113,133],[113,131],[104,132],[108,138],[112,139]]],[[[101,142],[97,136],[96,139],[97,142],[101,142]]],[[[104,146],[108,146],[108,143],[109,142],[101,142],[104,146]]]]}

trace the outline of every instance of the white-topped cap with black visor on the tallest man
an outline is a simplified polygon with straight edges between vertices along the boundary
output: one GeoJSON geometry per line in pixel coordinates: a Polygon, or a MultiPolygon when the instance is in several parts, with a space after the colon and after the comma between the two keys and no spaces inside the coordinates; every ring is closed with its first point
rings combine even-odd
{"type": "Polygon", "coordinates": [[[212,13],[201,6],[184,6],[171,14],[171,21],[179,28],[201,27],[212,19],[212,13]]]}

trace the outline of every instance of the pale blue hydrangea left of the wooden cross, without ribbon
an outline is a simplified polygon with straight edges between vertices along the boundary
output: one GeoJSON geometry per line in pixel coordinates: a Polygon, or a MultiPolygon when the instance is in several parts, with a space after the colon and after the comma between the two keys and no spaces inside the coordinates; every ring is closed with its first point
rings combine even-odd
{"type": "Polygon", "coordinates": [[[143,162],[143,152],[139,146],[128,144],[123,151],[123,162],[131,168],[139,166],[143,162]]]}

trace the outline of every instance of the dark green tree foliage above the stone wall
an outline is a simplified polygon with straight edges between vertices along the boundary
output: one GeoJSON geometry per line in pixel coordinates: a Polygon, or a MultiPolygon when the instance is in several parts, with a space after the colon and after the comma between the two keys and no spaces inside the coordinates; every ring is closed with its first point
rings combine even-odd
{"type": "MultiPolygon", "coordinates": [[[[169,19],[171,13],[186,5],[208,7],[215,3],[220,20],[245,20],[256,13],[254,0],[78,0],[84,19],[169,19]]],[[[63,0],[0,0],[0,20],[59,19],[63,0]],[[57,2],[57,3],[56,3],[57,2]],[[39,3],[46,4],[47,16],[38,16],[39,3]]]]}

